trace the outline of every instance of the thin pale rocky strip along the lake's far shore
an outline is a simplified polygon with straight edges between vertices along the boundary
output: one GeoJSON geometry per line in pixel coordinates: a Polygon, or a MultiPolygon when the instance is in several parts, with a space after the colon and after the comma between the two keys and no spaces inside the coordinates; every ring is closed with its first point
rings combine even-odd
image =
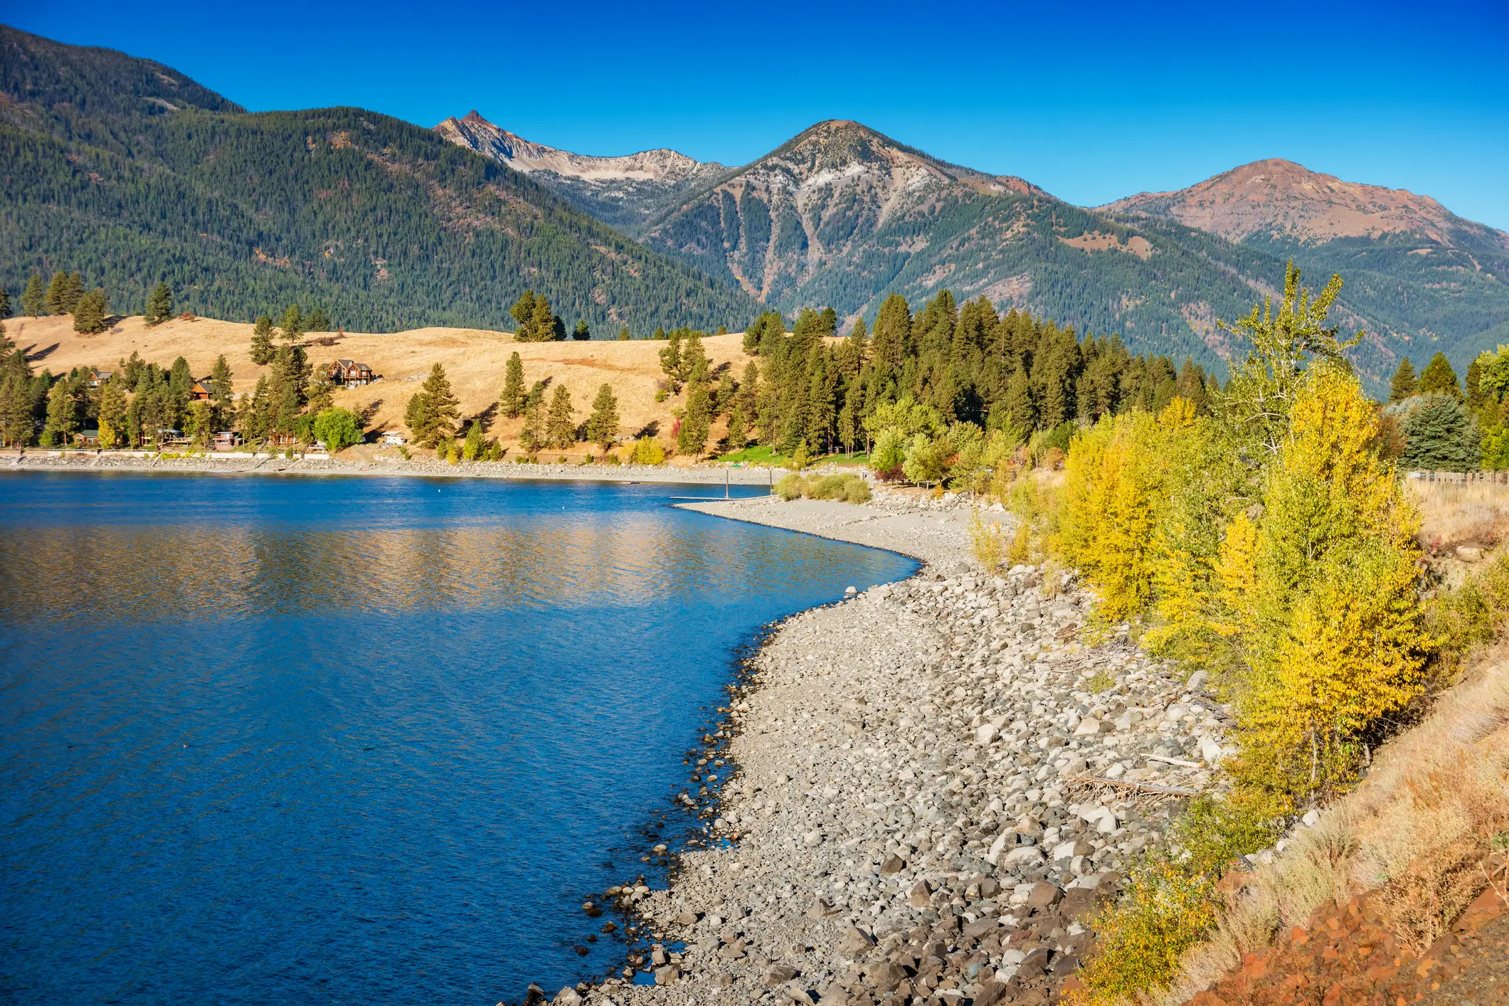
{"type": "Polygon", "coordinates": [[[601,483],[687,483],[705,486],[770,486],[780,478],[764,468],[646,466],[646,465],[515,465],[512,462],[460,462],[448,465],[427,459],[379,457],[370,462],[341,457],[252,457],[157,455],[95,451],[5,451],[0,471],[137,471],[208,472],[217,475],[376,475],[421,478],[510,478],[601,483]]]}

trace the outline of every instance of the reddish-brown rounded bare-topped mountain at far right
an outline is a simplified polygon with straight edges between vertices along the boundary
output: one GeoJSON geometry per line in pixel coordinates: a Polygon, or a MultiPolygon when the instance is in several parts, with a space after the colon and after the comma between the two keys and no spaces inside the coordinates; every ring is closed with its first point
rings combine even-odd
{"type": "Polygon", "coordinates": [[[1479,351],[1509,341],[1509,234],[1429,196],[1274,158],[1097,211],[1176,237],[1254,281],[1243,261],[1251,253],[1263,268],[1293,258],[1317,282],[1342,273],[1343,315],[1367,330],[1361,350],[1379,368],[1406,354],[1418,367],[1441,350],[1462,373],[1479,351]]]}

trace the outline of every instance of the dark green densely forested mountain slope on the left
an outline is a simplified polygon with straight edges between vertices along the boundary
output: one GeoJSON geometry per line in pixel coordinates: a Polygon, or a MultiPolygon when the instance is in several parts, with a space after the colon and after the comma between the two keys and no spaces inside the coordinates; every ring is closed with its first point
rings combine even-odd
{"type": "Polygon", "coordinates": [[[738,327],[741,291],[506,164],[362,109],[247,113],[161,63],[0,27],[0,284],[80,270],[116,311],[299,302],[364,330],[512,329],[525,288],[599,335],[738,327]]]}

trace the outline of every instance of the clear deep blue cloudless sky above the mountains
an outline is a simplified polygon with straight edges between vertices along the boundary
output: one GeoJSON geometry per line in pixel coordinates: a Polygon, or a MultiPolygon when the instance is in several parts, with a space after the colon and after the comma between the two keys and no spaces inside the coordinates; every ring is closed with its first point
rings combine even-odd
{"type": "Polygon", "coordinates": [[[252,110],[480,110],[584,154],[744,163],[857,119],[1080,205],[1263,157],[1509,229],[1509,3],[8,3],[252,110]],[[1237,9],[1240,6],[1240,11],[1237,9]]]}

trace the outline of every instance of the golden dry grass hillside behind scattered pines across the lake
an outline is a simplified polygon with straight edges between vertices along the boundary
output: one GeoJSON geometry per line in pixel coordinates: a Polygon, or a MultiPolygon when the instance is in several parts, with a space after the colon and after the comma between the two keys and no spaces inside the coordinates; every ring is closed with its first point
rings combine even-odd
{"type": "MultiPolygon", "coordinates": [[[[6,327],[35,368],[54,374],[74,367],[115,370],[122,357],[136,351],[143,360],[161,367],[183,356],[195,377],[202,377],[210,373],[214,357],[223,353],[235,376],[235,391],[249,392],[267,370],[252,363],[247,354],[252,326],[237,321],[172,320],[149,329],[140,317],[131,317],[100,335],[78,335],[72,330],[72,318],[59,315],[12,318],[6,327]]],[[[581,419],[587,418],[598,388],[604,382],[613,385],[623,436],[646,428],[668,433],[672,409],[684,404],[684,394],[664,403],[655,401],[655,386],[662,377],[658,353],[664,342],[515,342],[512,333],[477,329],[416,329],[386,335],[347,332],[343,336],[306,338],[337,338],[335,345],[311,342],[308,347],[309,360],[317,368],[337,357],[353,359],[382,376],[374,385],[343,389],[335,395],[338,406],[367,415],[368,428],[374,430],[404,428],[404,404],[420,389],[430,365],[441,363],[460,398],[462,416],[487,413],[492,419],[490,436],[515,440],[522,421],[490,415],[502,389],[504,365],[513,351],[524,360],[525,383],[545,379],[552,388],[564,383],[581,419]]],[[[732,363],[735,377],[739,377],[748,362],[739,342],[741,335],[733,333],[709,336],[703,345],[714,368],[732,363]]],[[[718,424],[714,437],[721,434],[723,425],[718,424]]]]}

